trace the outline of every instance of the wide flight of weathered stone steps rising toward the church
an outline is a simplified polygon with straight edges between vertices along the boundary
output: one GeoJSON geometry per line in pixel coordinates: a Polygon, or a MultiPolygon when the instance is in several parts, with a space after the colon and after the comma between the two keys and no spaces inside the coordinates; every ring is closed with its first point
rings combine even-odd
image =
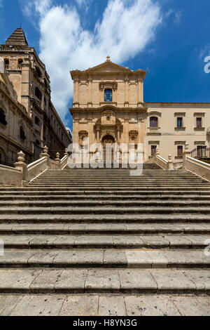
{"type": "Polygon", "coordinates": [[[209,295],[209,197],[193,173],[151,166],[1,187],[0,293],[209,295]]]}

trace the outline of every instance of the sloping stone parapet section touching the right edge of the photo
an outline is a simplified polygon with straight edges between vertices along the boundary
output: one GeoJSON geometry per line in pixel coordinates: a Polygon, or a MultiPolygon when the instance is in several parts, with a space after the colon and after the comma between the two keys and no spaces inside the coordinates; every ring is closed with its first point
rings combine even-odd
{"type": "Polygon", "coordinates": [[[210,164],[187,156],[185,159],[185,168],[186,170],[195,173],[197,176],[210,181],[210,164]]]}

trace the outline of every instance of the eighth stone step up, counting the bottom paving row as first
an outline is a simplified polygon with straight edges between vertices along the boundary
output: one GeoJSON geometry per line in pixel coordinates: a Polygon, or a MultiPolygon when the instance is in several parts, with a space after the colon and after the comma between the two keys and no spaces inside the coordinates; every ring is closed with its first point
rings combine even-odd
{"type": "MultiPolygon", "coordinates": [[[[12,201],[1,201],[0,200],[0,210],[1,210],[1,207],[2,206],[5,206],[5,207],[9,207],[9,206],[18,206],[18,207],[21,207],[21,206],[24,206],[24,207],[27,207],[27,206],[31,206],[31,207],[43,207],[43,206],[46,206],[47,208],[49,207],[88,207],[88,206],[93,206],[94,208],[97,207],[97,209],[99,209],[100,206],[102,207],[105,207],[105,206],[116,206],[116,207],[149,207],[149,206],[154,206],[154,207],[158,207],[160,206],[160,208],[162,207],[170,207],[170,208],[173,208],[173,207],[180,207],[182,208],[183,206],[186,206],[186,204],[188,205],[188,207],[199,207],[199,208],[202,208],[202,207],[207,207],[209,208],[210,206],[210,200],[206,200],[206,201],[201,201],[200,199],[198,200],[192,200],[192,199],[186,199],[184,201],[181,201],[181,200],[176,200],[174,201],[174,199],[169,199],[169,200],[162,200],[162,199],[150,199],[150,200],[144,200],[144,199],[136,199],[136,200],[127,200],[127,199],[124,199],[124,200],[115,200],[115,199],[105,199],[105,200],[102,200],[102,199],[85,199],[85,200],[52,200],[52,199],[48,199],[48,202],[46,202],[45,200],[36,200],[36,201],[33,201],[31,199],[29,200],[26,200],[26,201],[17,201],[17,200],[12,200],[12,201]]],[[[182,210],[182,209],[181,209],[182,210]]],[[[181,211],[180,210],[180,211],[181,211]]]]}

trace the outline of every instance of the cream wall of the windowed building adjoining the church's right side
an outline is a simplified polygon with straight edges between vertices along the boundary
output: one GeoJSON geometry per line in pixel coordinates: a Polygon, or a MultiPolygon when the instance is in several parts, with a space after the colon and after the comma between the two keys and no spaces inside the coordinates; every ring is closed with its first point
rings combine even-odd
{"type": "Polygon", "coordinates": [[[172,154],[173,161],[181,161],[177,157],[177,146],[189,144],[189,150],[198,145],[210,147],[208,128],[210,126],[210,104],[203,103],[147,103],[147,135],[145,138],[146,158],[151,156],[151,145],[157,145],[162,157],[172,154]],[[156,112],[156,113],[155,113],[156,112]],[[152,133],[149,118],[158,117],[158,132],[152,133]],[[183,118],[183,128],[176,128],[177,117],[183,118]],[[196,128],[196,118],[202,118],[202,128],[196,128]]]}

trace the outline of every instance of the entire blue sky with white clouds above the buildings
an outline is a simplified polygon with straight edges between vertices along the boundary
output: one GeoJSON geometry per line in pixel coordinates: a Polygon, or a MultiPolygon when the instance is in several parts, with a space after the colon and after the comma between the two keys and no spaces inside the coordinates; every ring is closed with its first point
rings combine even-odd
{"type": "Polygon", "coordinates": [[[25,30],[50,74],[52,101],[67,127],[72,102],[69,71],[111,55],[147,70],[146,102],[210,102],[208,0],[0,0],[1,43],[25,30]]]}

